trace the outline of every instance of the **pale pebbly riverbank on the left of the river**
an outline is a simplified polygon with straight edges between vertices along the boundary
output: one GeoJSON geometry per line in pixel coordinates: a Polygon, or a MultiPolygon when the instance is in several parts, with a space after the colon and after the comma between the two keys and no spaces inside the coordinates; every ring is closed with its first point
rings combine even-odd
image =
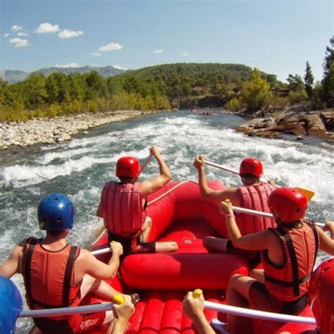
{"type": "Polygon", "coordinates": [[[64,142],[79,132],[87,134],[89,128],[140,115],[142,115],[141,111],[111,111],[59,116],[51,119],[35,118],[27,122],[0,123],[0,149],[64,142]]]}

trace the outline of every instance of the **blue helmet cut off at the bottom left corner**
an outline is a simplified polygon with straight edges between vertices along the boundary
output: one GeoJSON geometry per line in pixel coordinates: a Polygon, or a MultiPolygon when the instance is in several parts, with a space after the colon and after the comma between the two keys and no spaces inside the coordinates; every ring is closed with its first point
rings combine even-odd
{"type": "Polygon", "coordinates": [[[0,276],[0,333],[14,333],[15,324],[23,302],[16,285],[5,276],[0,276]]]}

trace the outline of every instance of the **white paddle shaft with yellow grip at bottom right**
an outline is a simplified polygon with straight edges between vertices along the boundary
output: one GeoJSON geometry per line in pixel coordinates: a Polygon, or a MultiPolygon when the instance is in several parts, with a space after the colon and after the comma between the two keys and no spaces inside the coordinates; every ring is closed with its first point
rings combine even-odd
{"type": "MultiPolygon", "coordinates": [[[[192,298],[197,299],[202,293],[203,291],[201,289],[196,289],[192,292],[192,298]]],[[[267,319],[272,321],[307,323],[310,325],[314,325],[316,323],[315,318],[307,316],[290,316],[288,314],[278,314],[266,311],[258,311],[255,309],[245,309],[243,307],[233,307],[226,304],[218,304],[208,301],[204,301],[204,309],[212,309],[214,311],[227,314],[235,314],[237,316],[247,316],[249,318],[267,319]]]]}

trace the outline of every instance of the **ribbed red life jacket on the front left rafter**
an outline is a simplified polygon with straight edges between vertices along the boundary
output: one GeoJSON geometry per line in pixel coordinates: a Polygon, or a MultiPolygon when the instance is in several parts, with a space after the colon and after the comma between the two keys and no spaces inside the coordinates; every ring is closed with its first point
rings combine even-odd
{"type": "Polygon", "coordinates": [[[141,190],[139,182],[109,182],[104,185],[101,208],[107,230],[122,237],[135,237],[140,233],[146,218],[141,190]]]}

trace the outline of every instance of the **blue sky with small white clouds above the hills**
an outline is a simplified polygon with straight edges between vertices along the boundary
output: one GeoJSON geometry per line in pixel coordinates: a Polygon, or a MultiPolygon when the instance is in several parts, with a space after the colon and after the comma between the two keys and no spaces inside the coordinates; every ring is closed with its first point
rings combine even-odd
{"type": "Polygon", "coordinates": [[[327,0],[0,0],[0,68],[242,63],[322,78],[327,0]]]}

